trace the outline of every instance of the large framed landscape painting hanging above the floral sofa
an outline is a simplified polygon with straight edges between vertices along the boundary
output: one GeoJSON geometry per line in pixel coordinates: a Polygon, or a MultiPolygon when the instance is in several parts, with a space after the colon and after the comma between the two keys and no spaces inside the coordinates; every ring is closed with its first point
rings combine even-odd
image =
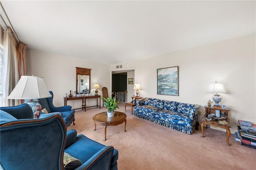
{"type": "Polygon", "coordinates": [[[157,69],[157,94],[179,96],[179,67],[157,69]]]}

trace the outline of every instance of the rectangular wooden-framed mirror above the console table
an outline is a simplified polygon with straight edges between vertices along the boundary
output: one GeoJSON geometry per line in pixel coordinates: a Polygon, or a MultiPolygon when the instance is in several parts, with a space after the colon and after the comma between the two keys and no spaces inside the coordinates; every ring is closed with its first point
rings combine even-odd
{"type": "Polygon", "coordinates": [[[90,93],[91,69],[76,67],[76,93],[90,93]]]}

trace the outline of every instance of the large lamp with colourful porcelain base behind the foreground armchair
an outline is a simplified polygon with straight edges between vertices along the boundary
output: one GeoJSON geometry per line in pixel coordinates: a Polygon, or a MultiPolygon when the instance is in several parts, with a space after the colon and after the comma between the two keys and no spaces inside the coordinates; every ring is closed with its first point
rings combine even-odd
{"type": "Polygon", "coordinates": [[[8,99],[24,99],[33,110],[34,118],[39,118],[42,106],[37,99],[49,98],[49,93],[44,78],[37,76],[21,76],[20,80],[12,90],[8,99]]]}

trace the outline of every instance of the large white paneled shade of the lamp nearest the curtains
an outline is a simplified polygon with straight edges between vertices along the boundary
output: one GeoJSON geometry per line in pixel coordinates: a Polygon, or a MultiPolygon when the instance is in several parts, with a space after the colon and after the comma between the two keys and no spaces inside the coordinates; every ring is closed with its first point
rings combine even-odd
{"type": "Polygon", "coordinates": [[[44,78],[37,76],[21,76],[8,99],[40,99],[52,95],[44,83],[44,78]]]}

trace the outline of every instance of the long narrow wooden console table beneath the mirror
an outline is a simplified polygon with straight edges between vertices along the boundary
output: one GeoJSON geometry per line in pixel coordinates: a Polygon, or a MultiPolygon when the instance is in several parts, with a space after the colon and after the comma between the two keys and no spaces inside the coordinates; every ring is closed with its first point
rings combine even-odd
{"type": "Polygon", "coordinates": [[[86,99],[94,99],[96,98],[97,99],[97,104],[95,105],[97,108],[98,106],[100,107],[100,105],[98,105],[98,98],[100,98],[100,95],[95,95],[95,96],[77,96],[77,97],[64,97],[64,106],[67,106],[67,101],[68,100],[82,100],[82,107],[81,108],[77,108],[77,109],[84,109],[84,111],[86,111],[86,108],[88,107],[95,107],[95,106],[88,106],[86,107],[86,99]]]}

